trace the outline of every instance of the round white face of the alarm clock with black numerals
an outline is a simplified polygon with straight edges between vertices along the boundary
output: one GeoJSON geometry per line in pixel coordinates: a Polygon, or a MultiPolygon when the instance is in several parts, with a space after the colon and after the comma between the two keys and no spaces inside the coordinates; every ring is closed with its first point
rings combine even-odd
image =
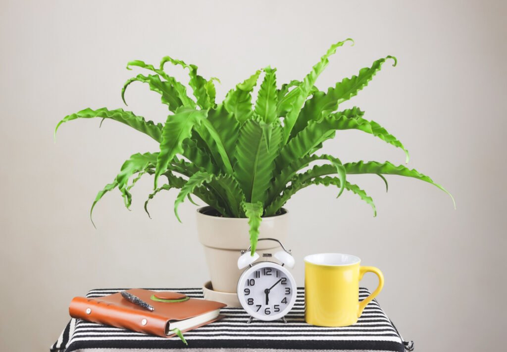
{"type": "Polygon", "coordinates": [[[238,299],[253,317],[265,321],[279,319],[296,302],[296,283],[284,267],[261,262],[246,269],[238,281],[238,299]]]}

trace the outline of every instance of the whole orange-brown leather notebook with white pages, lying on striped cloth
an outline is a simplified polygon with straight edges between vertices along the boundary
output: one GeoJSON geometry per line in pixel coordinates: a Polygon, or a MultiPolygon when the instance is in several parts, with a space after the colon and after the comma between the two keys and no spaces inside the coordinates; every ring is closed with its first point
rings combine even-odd
{"type": "Polygon", "coordinates": [[[75,297],[68,308],[70,316],[141,333],[172,337],[172,329],[189,331],[221,319],[220,302],[189,298],[177,292],[127,290],[153,308],[150,311],[123,298],[121,293],[86,298],[75,297]]]}

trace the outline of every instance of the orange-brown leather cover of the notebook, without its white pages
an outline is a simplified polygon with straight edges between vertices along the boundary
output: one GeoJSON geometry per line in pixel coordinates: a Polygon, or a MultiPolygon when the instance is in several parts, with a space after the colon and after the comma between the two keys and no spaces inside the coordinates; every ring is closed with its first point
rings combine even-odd
{"type": "MultiPolygon", "coordinates": [[[[155,310],[149,311],[123,298],[120,293],[113,295],[86,298],[75,297],[68,308],[73,318],[83,319],[89,322],[111,325],[117,328],[129,329],[145,334],[153,334],[161,337],[171,337],[174,334],[166,335],[167,323],[172,320],[184,320],[198,316],[216,309],[225,307],[224,303],[190,298],[183,302],[158,302],[151,299],[152,295],[159,292],[131,289],[127,292],[148,302],[155,310]],[[90,313],[87,313],[87,309],[90,313]],[[143,319],[146,324],[142,325],[143,319]]],[[[220,319],[219,315],[216,319],[220,319]]],[[[207,322],[199,326],[206,325],[207,322]]],[[[197,328],[193,327],[192,329],[197,328]]],[[[188,330],[192,330],[188,329],[188,330]]],[[[187,331],[188,331],[187,330],[187,331]]]]}

